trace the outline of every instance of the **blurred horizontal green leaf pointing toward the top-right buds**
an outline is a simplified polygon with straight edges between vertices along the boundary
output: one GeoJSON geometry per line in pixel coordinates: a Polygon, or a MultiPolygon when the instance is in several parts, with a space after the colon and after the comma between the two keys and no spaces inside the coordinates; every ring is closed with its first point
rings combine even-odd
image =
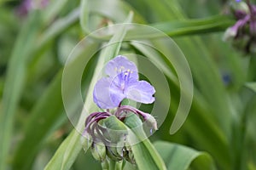
{"type": "MultiPolygon", "coordinates": [[[[160,31],[166,33],[170,37],[181,37],[188,35],[198,35],[202,33],[213,33],[217,31],[224,31],[227,27],[231,26],[234,21],[225,16],[213,16],[205,19],[194,20],[171,20],[166,22],[156,22],[148,26],[153,26],[160,31]]],[[[127,32],[126,37],[133,38],[156,38],[162,37],[162,32],[157,33],[154,30],[140,31],[138,34],[136,29],[131,29],[127,32]]]]}

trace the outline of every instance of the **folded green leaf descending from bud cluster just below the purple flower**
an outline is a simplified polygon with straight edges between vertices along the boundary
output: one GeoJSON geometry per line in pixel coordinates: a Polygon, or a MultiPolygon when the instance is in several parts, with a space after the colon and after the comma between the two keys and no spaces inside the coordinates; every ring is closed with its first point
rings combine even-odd
{"type": "Polygon", "coordinates": [[[139,169],[166,169],[164,161],[161,159],[154,145],[147,139],[146,134],[143,132],[143,122],[140,118],[131,114],[125,118],[125,125],[130,127],[134,133],[134,139],[131,140],[131,150],[139,169]],[[132,144],[135,141],[140,141],[137,144],[132,144]]]}

